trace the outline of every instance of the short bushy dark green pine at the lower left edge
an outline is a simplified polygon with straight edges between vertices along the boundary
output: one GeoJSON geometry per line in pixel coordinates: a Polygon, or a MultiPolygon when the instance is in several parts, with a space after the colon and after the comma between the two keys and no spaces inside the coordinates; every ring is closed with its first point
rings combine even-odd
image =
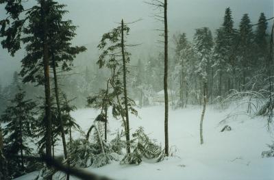
{"type": "Polygon", "coordinates": [[[25,172],[26,159],[23,155],[29,155],[32,151],[27,144],[27,138],[33,136],[30,127],[34,121],[36,103],[24,98],[25,92],[19,88],[19,92],[11,100],[12,105],[1,115],[1,123],[7,123],[3,128],[4,153],[9,159],[11,177],[25,172]],[[20,159],[16,155],[20,155],[20,159]]]}

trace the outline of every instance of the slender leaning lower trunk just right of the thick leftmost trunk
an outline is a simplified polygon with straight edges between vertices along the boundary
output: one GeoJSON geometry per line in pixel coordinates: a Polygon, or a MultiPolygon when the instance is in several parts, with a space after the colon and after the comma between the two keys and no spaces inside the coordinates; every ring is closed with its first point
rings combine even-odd
{"type": "MultiPolygon", "coordinates": [[[[57,105],[57,110],[58,110],[58,119],[59,119],[60,129],[61,129],[62,144],[63,144],[63,149],[64,149],[64,158],[68,162],[68,166],[69,166],[68,151],[66,149],[66,136],[65,136],[65,133],[64,133],[64,123],[63,123],[63,119],[62,119],[62,113],[61,113],[60,101],[59,101],[58,79],[57,79],[57,73],[56,73],[56,64],[55,64],[55,58],[54,58],[53,54],[51,55],[51,60],[52,60],[52,66],[53,66],[53,79],[54,79],[55,100],[56,100],[56,105],[57,105]]],[[[66,179],[69,180],[69,174],[66,175],[66,179]]]]}

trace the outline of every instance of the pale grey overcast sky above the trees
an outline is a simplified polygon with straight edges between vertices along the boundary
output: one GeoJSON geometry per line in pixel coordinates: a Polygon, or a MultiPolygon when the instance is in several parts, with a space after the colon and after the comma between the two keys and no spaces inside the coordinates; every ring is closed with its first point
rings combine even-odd
{"type": "MultiPolygon", "coordinates": [[[[273,16],[274,0],[169,0],[168,23],[169,36],[175,32],[186,32],[191,40],[195,29],[210,27],[214,32],[222,21],[225,8],[232,9],[235,25],[242,14],[248,13],[252,23],[258,21],[260,12],[266,18],[273,16]]],[[[35,3],[29,0],[29,3],[35,3]]],[[[74,44],[86,44],[89,51],[94,51],[102,34],[116,27],[116,23],[124,18],[126,22],[142,21],[131,25],[130,42],[142,43],[141,49],[153,49],[158,36],[153,29],[161,27],[160,23],[153,20],[153,8],[143,0],[60,0],[67,5],[69,14],[66,18],[73,20],[77,26],[77,36],[74,44]]],[[[0,5],[0,18],[5,18],[3,5],[0,5]]],[[[10,57],[6,49],[0,47],[0,82],[7,84],[12,78],[14,70],[20,70],[20,60],[24,52],[16,53],[10,57]]],[[[96,57],[94,57],[96,58],[96,57]]]]}

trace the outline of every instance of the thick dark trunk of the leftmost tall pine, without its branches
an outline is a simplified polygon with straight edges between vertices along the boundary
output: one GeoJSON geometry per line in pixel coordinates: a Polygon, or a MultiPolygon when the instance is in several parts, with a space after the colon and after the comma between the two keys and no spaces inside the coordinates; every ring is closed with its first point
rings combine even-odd
{"type": "Polygon", "coordinates": [[[43,50],[43,64],[45,77],[45,119],[46,119],[46,155],[51,157],[51,90],[49,84],[49,47],[47,44],[47,21],[45,18],[45,0],[41,0],[41,17],[42,17],[42,50],[43,50]]]}

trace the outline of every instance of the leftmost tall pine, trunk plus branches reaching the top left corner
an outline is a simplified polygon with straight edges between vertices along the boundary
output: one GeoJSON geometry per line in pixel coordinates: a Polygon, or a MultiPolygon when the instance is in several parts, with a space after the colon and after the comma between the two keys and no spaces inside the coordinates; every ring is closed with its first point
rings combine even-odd
{"type": "MultiPolygon", "coordinates": [[[[2,47],[8,49],[13,56],[21,49],[21,42],[26,44],[27,57],[23,63],[23,74],[29,76],[23,81],[36,81],[45,86],[45,118],[47,123],[47,146],[46,155],[51,156],[51,102],[49,84],[49,26],[51,23],[49,16],[49,4],[51,0],[38,0],[37,4],[29,9],[25,9],[24,1],[3,0],[5,10],[9,15],[0,21],[0,34],[5,37],[2,47]],[[40,18],[37,18],[37,17],[40,18]],[[40,49],[41,51],[35,51],[40,49]],[[30,53],[32,52],[32,53],[30,53]],[[36,73],[42,66],[43,72],[36,73]]],[[[21,73],[22,74],[22,73],[21,73]]]]}

